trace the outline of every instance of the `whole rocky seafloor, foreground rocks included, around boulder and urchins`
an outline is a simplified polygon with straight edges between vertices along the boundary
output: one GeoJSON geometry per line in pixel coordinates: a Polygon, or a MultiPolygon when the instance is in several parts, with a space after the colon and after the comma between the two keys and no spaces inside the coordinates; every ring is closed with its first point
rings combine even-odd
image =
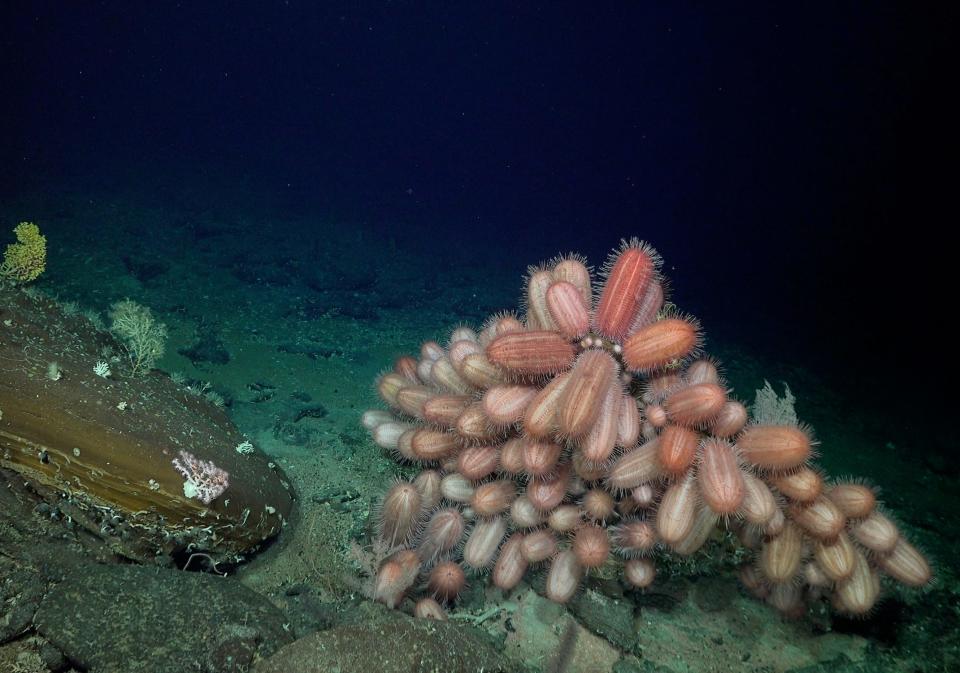
{"type": "MultiPolygon", "coordinates": [[[[719,539],[661,568],[646,591],[594,577],[567,606],[544,599],[536,575],[507,595],[474,579],[446,624],[370,602],[363,546],[371,505],[402,473],[359,425],[376,405],[372,382],[421,341],[514,306],[524,266],[471,266],[454,252],[417,251],[311,213],[211,202],[231,201],[179,185],[151,196],[45,190],[4,204],[0,228],[32,219],[47,235],[48,269],[37,290],[80,311],[102,313],[124,297],[150,306],[170,330],[160,367],[187,385],[210,384],[294,484],[294,518],[244,564],[198,563],[184,572],[118,563],[25,491],[3,489],[0,670],[349,671],[370,670],[371,661],[385,671],[675,673],[960,665],[960,496],[946,433],[920,432],[876,400],[851,399],[842,373],[833,379],[778,361],[775,349],[748,354],[734,342],[708,342],[733,387],[746,394],[765,379],[789,383],[823,444],[820,463],[883,487],[884,501],[933,559],[933,587],[889,587],[866,619],[818,609],[786,620],[738,587],[735,559],[719,539]]],[[[648,232],[624,234],[655,242],[648,232]]],[[[556,246],[551,253],[568,247],[556,246]]]]}

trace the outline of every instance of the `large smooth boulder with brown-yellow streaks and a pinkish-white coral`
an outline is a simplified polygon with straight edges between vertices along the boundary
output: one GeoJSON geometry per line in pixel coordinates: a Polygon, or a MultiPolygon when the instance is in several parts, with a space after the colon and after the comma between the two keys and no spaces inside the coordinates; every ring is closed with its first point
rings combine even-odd
{"type": "Polygon", "coordinates": [[[279,468],[202,396],[130,376],[123,356],[87,318],[0,287],[0,469],[130,558],[223,560],[277,534],[293,502],[279,468]]]}

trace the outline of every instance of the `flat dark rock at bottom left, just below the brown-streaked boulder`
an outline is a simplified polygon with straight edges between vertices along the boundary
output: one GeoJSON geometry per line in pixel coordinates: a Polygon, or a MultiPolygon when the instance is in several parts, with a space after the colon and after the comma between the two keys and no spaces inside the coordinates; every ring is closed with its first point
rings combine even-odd
{"type": "Polygon", "coordinates": [[[77,567],[34,623],[91,673],[246,671],[291,640],[283,614],[232,578],[142,566],[77,567]]]}

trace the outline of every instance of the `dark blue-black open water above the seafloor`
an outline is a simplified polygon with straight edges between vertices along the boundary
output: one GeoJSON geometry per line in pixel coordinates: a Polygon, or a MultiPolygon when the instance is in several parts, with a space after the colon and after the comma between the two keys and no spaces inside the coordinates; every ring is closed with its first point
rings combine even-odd
{"type": "Polygon", "coordinates": [[[0,196],[217,175],[211,205],[317,218],[278,236],[362,225],[441,265],[635,235],[716,338],[949,412],[933,7],[7,2],[0,196]]]}

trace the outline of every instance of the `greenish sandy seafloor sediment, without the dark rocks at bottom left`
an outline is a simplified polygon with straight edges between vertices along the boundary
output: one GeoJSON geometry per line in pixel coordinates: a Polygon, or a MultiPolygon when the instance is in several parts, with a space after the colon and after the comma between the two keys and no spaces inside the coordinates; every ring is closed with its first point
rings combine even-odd
{"type": "MultiPolygon", "coordinates": [[[[359,547],[368,539],[371,504],[404,469],[359,426],[362,411],[375,405],[367,382],[395,356],[416,351],[421,341],[514,306],[523,266],[495,261],[470,266],[456,251],[417,253],[402,239],[374,237],[312,213],[284,216],[274,204],[249,196],[230,199],[213,188],[201,194],[177,184],[166,189],[150,196],[79,187],[44,190],[4,204],[0,222],[6,230],[32,219],[47,235],[50,262],[37,290],[77,310],[101,313],[130,297],[167,323],[170,348],[160,367],[182,375],[185,385],[209,383],[239,429],[277,461],[299,496],[295,518],[279,541],[231,568],[224,581],[272,603],[291,639],[319,634],[310,637],[333,642],[323,641],[326,634],[349,648],[361,642],[357,629],[364,622],[358,615],[367,623],[392,619],[362,598],[365,555],[359,547]],[[177,198],[167,198],[172,193],[177,198]],[[262,226],[267,221],[270,231],[262,226]],[[278,238],[278,230],[287,235],[278,238]],[[339,640],[347,636],[356,639],[339,640]]],[[[647,232],[624,234],[655,238],[647,232]]],[[[567,247],[563,241],[555,245],[551,253],[567,247]]],[[[885,586],[886,600],[863,620],[827,612],[784,620],[737,589],[734,564],[714,546],[662,570],[645,592],[597,579],[567,607],[538,595],[537,578],[509,595],[476,581],[452,610],[451,621],[475,629],[477,647],[499,649],[503,665],[516,670],[960,666],[952,542],[960,539],[953,516],[960,508],[953,487],[958,475],[945,448],[915,450],[921,444],[946,445],[948,435],[895,421],[866,395],[851,398],[842,372],[831,377],[780,362],[773,348],[748,354],[736,343],[712,340],[709,350],[741,393],[761,387],[764,379],[790,385],[800,416],[825,447],[820,463],[833,475],[862,475],[882,488],[883,500],[911,540],[932,557],[935,585],[923,592],[885,586]],[[569,661],[561,664],[558,656],[569,661]]],[[[26,533],[50,545],[64,543],[66,535],[69,544],[70,532],[56,522],[24,525],[23,517],[40,515],[18,516],[18,535],[0,526],[10,567],[30,565],[29,554],[18,546],[26,544],[26,533]]],[[[17,656],[25,661],[24,653],[43,651],[45,642],[70,647],[49,631],[43,635],[44,628],[51,627],[0,634],[5,641],[0,669],[17,656]]],[[[407,633],[409,627],[390,628],[407,633]]],[[[123,624],[111,629],[120,638],[123,624]]]]}

